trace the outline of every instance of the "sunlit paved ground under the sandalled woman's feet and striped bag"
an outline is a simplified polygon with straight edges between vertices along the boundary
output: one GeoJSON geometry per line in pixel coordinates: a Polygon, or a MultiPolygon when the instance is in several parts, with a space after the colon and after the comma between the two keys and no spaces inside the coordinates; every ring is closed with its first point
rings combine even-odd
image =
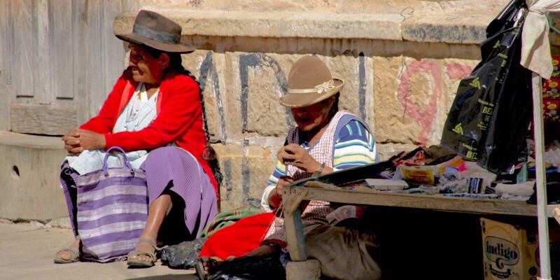
{"type": "Polygon", "coordinates": [[[72,239],[68,229],[0,223],[0,279],[198,279],[194,270],[169,269],[159,261],[146,269],[127,269],[125,262],[54,264],[55,253],[72,239]]]}

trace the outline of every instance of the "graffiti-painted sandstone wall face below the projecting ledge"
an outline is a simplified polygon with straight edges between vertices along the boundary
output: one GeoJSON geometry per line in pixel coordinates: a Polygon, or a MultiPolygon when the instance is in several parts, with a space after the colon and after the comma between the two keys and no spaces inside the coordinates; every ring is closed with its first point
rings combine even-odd
{"type": "MultiPolygon", "coordinates": [[[[290,65],[307,54],[306,50],[272,52],[278,40],[272,41],[267,52],[246,52],[239,51],[244,49],[242,44],[220,40],[215,43],[225,49],[221,52],[197,50],[183,57],[204,87],[209,130],[218,143],[214,147],[225,174],[224,209],[258,207],[274,155],[293,125],[278,99],[286,92],[290,65]],[[234,47],[237,51],[229,50],[234,47]]],[[[367,120],[381,158],[417,145],[438,144],[458,81],[477,64],[475,59],[444,58],[450,48],[444,44],[433,45],[434,52],[426,52],[426,57],[384,53],[398,48],[394,43],[386,48],[334,42],[325,48],[328,51],[315,52],[333,76],[344,78],[341,109],[367,120]]]]}

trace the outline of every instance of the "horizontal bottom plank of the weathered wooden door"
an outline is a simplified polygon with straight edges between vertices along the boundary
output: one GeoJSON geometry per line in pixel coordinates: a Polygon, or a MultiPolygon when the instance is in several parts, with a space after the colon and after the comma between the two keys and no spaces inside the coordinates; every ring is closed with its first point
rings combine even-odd
{"type": "Polygon", "coordinates": [[[11,104],[12,131],[18,133],[64,135],[75,128],[74,107],[35,104],[11,104]]]}

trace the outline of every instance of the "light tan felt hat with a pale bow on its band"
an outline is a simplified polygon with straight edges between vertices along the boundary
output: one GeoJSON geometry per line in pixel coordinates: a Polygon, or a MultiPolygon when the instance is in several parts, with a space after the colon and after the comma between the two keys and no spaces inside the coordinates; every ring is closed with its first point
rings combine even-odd
{"type": "Polygon", "coordinates": [[[288,94],[280,98],[282,106],[305,107],[337,94],[344,80],[332,78],[325,62],[311,55],[297,59],[288,74],[288,94]]]}

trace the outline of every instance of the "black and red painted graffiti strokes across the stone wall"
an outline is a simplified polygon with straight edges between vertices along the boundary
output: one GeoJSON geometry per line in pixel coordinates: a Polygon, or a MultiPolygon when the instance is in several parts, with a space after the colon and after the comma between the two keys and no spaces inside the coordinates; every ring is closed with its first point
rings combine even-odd
{"type": "MultiPolygon", "coordinates": [[[[358,74],[358,115],[361,118],[367,117],[366,99],[367,99],[367,67],[366,67],[366,57],[363,52],[360,52],[357,59],[357,74],[358,74]]],[[[247,132],[248,125],[248,95],[249,95],[249,71],[250,69],[256,69],[258,67],[271,69],[273,75],[269,78],[276,83],[277,90],[280,95],[286,94],[287,92],[287,75],[286,72],[281,69],[279,63],[270,57],[269,55],[256,52],[244,55],[239,55],[239,108],[241,110],[242,118],[242,130],[247,132]]],[[[472,71],[472,66],[451,63],[445,64],[445,68],[442,70],[442,66],[438,64],[433,59],[421,59],[418,61],[411,62],[403,67],[402,76],[400,78],[400,83],[398,84],[398,96],[400,100],[400,105],[402,106],[405,114],[412,118],[416,123],[419,124],[421,130],[419,132],[417,143],[426,144],[430,136],[430,130],[432,130],[435,119],[437,118],[438,105],[442,100],[443,84],[444,84],[444,73],[451,79],[459,79],[468,76],[470,71],[472,71]],[[419,106],[414,104],[409,97],[411,92],[411,83],[414,80],[415,75],[425,75],[428,80],[432,83],[428,89],[430,90],[429,96],[426,97],[428,100],[426,106],[419,106]]],[[[225,102],[225,92],[221,90],[221,83],[218,76],[218,69],[214,64],[214,53],[209,51],[202,59],[202,63],[199,67],[200,73],[200,85],[202,90],[207,90],[211,88],[214,92],[214,97],[216,99],[216,114],[217,120],[219,122],[218,129],[221,132],[222,143],[228,142],[228,127],[226,127],[225,111],[223,110],[223,102],[225,102]]],[[[352,80],[346,77],[346,80],[352,80]]],[[[225,86],[225,85],[222,85],[225,86]]],[[[229,93],[231,94],[231,93],[229,93]]],[[[286,123],[288,125],[294,125],[293,119],[290,116],[289,109],[286,109],[286,123]]],[[[248,151],[248,147],[251,145],[250,138],[241,139],[242,146],[245,151],[248,151]]],[[[244,158],[241,162],[241,193],[244,204],[248,204],[251,207],[260,206],[260,197],[251,197],[249,188],[251,186],[251,170],[249,168],[248,158],[244,158]]],[[[230,160],[225,160],[223,162],[223,173],[225,176],[225,198],[230,199],[231,193],[234,191],[232,188],[232,162],[230,160]]],[[[259,182],[260,183],[260,182],[259,182]]]]}

